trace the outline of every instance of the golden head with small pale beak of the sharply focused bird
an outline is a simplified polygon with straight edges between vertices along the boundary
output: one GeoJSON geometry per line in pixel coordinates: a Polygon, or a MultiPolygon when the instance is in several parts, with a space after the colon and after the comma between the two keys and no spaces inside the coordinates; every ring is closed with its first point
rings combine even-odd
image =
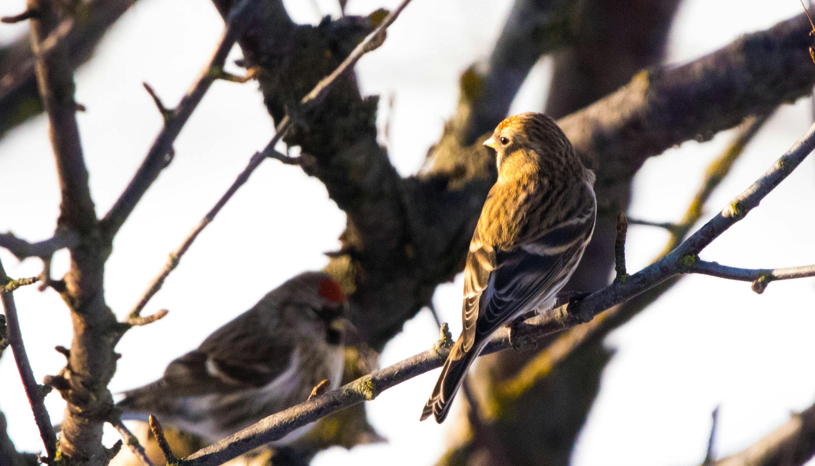
{"type": "Polygon", "coordinates": [[[530,170],[572,171],[585,169],[566,134],[555,121],[537,112],[519,113],[501,121],[484,145],[496,151],[499,180],[530,170]]]}

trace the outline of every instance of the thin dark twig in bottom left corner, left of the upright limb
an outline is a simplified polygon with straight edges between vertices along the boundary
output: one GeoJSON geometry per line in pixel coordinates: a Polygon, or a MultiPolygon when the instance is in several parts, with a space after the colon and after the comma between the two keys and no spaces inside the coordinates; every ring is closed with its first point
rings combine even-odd
{"type": "MultiPolygon", "coordinates": [[[[10,279],[8,275],[6,275],[6,270],[3,269],[2,262],[0,262],[0,282],[5,283],[8,281],[10,281],[10,279]]],[[[56,434],[51,424],[51,417],[48,415],[48,411],[43,403],[42,392],[37,385],[37,380],[34,379],[34,372],[31,370],[29,356],[25,352],[23,335],[20,332],[20,320],[17,319],[17,306],[15,306],[14,297],[11,292],[0,293],[0,298],[2,298],[2,306],[6,314],[8,343],[11,346],[12,354],[14,354],[17,370],[20,371],[20,379],[23,380],[25,395],[29,398],[31,411],[34,413],[37,429],[40,430],[42,443],[46,447],[46,453],[48,455],[46,463],[51,463],[56,455],[56,434]]]]}

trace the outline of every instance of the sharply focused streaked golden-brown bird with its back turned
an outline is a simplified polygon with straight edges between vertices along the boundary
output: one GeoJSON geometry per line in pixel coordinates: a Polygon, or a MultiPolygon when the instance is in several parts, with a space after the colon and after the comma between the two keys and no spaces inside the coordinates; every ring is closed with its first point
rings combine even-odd
{"type": "Polygon", "coordinates": [[[464,270],[461,336],[421,420],[447,417],[469,366],[492,332],[532,310],[550,310],[592,238],[594,173],[542,113],[501,121],[484,145],[498,181],[478,218],[464,270]]]}

